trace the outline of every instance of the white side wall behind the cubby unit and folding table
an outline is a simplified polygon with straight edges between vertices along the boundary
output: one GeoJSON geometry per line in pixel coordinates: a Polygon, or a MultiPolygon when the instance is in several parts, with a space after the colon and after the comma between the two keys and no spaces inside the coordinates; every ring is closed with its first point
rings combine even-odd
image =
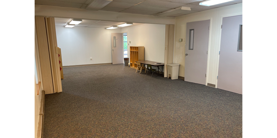
{"type": "MultiPolygon", "coordinates": [[[[164,63],[165,61],[165,34],[166,25],[141,24],[122,29],[127,32],[128,57],[130,58],[130,46],[144,46],[145,60],[164,63]]],[[[155,68],[156,69],[156,68],[155,68]]]]}

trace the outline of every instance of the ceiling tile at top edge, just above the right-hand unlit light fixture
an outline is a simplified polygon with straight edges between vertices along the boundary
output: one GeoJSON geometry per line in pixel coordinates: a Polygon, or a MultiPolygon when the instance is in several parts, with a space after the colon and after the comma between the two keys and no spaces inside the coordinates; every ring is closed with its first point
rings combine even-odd
{"type": "Polygon", "coordinates": [[[161,1],[161,0],[146,0],[140,4],[146,5],[146,6],[163,7],[163,8],[177,8],[177,7],[186,5],[184,3],[172,3],[172,2],[161,1]]]}

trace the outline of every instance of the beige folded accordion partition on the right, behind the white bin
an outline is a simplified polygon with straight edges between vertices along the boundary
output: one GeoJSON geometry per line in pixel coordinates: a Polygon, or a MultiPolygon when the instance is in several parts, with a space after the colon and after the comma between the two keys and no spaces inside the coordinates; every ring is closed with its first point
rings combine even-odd
{"type": "Polygon", "coordinates": [[[174,33],[175,33],[175,25],[166,25],[165,72],[164,72],[164,77],[167,77],[167,64],[172,64],[173,63],[173,56],[174,56],[174,33]]]}

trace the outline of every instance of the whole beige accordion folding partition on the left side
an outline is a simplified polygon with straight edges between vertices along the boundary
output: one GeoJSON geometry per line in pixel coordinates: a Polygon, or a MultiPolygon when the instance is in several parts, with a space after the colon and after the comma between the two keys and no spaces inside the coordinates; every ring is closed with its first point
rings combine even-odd
{"type": "Polygon", "coordinates": [[[54,18],[36,16],[35,24],[45,94],[62,92],[54,18]]]}

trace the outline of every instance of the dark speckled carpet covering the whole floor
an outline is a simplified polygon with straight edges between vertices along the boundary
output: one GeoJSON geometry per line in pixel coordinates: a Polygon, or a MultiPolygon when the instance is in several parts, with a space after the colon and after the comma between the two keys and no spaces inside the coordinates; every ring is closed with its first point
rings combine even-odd
{"type": "Polygon", "coordinates": [[[43,137],[243,137],[242,95],[135,71],[64,68],[63,92],[45,96],[43,137]]]}

